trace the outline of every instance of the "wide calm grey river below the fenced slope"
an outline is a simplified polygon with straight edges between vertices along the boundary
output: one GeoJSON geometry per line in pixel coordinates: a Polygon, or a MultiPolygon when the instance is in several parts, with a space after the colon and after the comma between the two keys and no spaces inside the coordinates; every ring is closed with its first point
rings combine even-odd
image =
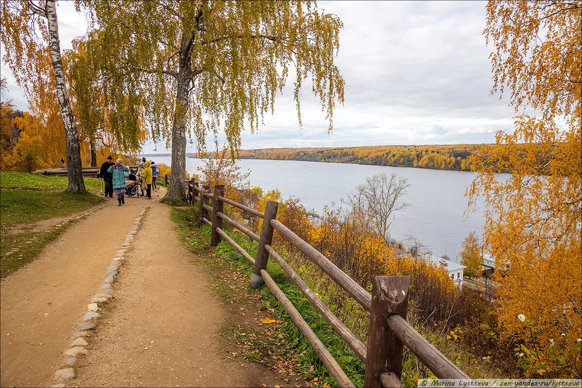
{"type": "MultiPolygon", "coordinates": [[[[148,156],[150,159],[171,164],[169,156],[148,156]]],[[[283,198],[291,195],[300,198],[306,209],[320,214],[326,205],[346,199],[365,177],[396,173],[409,181],[403,201],[410,205],[394,213],[392,238],[406,244],[405,240],[414,236],[435,255],[446,254],[459,262],[463,239],[471,231],[481,236],[482,202],[475,213],[464,216],[468,202],[465,191],[476,176],[474,172],[257,159],[241,159],[238,163],[244,171],[251,170],[251,186],[264,191],[278,188],[283,198]]],[[[200,173],[197,168],[202,164],[200,159],[187,158],[186,170],[190,174],[200,173]]],[[[507,176],[500,174],[501,179],[507,176]]]]}

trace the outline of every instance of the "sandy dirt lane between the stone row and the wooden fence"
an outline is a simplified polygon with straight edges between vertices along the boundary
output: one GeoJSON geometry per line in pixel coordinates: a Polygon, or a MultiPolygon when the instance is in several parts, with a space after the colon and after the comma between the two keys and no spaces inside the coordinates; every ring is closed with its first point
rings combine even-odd
{"type": "Polygon", "coordinates": [[[113,286],[115,303],[67,386],[281,384],[260,365],[228,359],[226,314],[192,258],[168,205],[152,203],[113,286]]]}

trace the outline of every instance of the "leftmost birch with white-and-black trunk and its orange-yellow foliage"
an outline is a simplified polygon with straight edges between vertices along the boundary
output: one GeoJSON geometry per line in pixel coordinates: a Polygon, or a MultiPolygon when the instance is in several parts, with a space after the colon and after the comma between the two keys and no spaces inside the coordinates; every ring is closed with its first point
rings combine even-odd
{"type": "Polygon", "coordinates": [[[81,150],[73,111],[69,103],[66,77],[61,58],[59,26],[56,17],[56,1],[46,0],[34,3],[28,1],[3,1],[2,43],[6,48],[5,61],[15,73],[17,82],[29,94],[40,85],[42,74],[40,63],[49,55],[52,62],[52,77],[56,89],[61,118],[65,127],[66,160],[69,172],[69,191],[85,191],[81,150]],[[40,37],[37,35],[40,32],[40,37]]]}

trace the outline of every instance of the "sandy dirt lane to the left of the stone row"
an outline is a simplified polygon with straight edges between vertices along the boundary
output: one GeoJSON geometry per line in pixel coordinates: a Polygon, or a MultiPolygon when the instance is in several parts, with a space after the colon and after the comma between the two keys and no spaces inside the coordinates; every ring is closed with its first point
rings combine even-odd
{"type": "Polygon", "coordinates": [[[0,386],[52,386],[105,268],[149,202],[128,198],[74,223],[34,262],[0,283],[0,386]]]}

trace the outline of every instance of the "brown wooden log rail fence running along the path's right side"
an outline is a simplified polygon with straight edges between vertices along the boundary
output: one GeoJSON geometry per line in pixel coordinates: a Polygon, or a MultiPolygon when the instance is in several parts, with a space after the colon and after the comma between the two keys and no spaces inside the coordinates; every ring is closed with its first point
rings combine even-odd
{"type": "MultiPolygon", "coordinates": [[[[167,179],[166,177],[166,184],[168,183],[167,179]]],[[[269,276],[266,269],[269,256],[281,266],[297,288],[310,301],[311,305],[320,312],[333,330],[346,342],[347,346],[352,348],[357,357],[364,362],[365,387],[402,387],[400,375],[402,373],[404,346],[409,348],[439,379],[470,379],[466,373],[461,371],[406,321],[410,277],[377,276],[373,280],[372,294],[369,294],[360,284],[347,276],[345,272],[340,270],[321,252],[307,244],[292,230],[276,220],[278,202],[268,201],[265,212],[261,213],[225,198],[223,186],[215,186],[214,193],[211,193],[210,186],[200,186],[194,179],[186,181],[186,183],[189,203],[191,204],[194,201],[200,203],[198,222],[200,225],[206,223],[212,228],[211,245],[215,246],[220,243],[221,239],[224,239],[253,265],[250,287],[257,289],[262,284],[269,287],[340,387],[353,387],[354,385],[300,315],[299,311],[293,306],[292,302],[289,301],[269,276]],[[212,199],[212,205],[210,205],[210,199],[212,199]],[[224,204],[262,218],[261,234],[252,232],[226,216],[223,212],[224,204]],[[251,257],[248,252],[224,232],[222,229],[223,223],[235,227],[249,236],[250,239],[257,241],[258,249],[255,258],[251,257]],[[271,246],[275,230],[303,252],[307,258],[317,264],[336,284],[370,312],[368,347],[365,347],[356,335],[333,314],[327,305],[309,289],[307,284],[271,246]]]]}

